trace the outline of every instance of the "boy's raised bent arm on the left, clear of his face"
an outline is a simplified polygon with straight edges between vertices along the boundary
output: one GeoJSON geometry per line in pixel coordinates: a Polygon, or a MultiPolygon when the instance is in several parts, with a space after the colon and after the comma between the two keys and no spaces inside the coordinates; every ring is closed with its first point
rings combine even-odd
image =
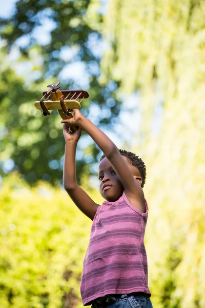
{"type": "Polygon", "coordinates": [[[74,133],[68,133],[68,127],[64,124],[65,159],[64,159],[64,188],[76,206],[91,220],[93,220],[99,204],[95,203],[88,194],[77,184],[75,171],[75,153],[77,142],[81,135],[81,128],[74,133]]]}

